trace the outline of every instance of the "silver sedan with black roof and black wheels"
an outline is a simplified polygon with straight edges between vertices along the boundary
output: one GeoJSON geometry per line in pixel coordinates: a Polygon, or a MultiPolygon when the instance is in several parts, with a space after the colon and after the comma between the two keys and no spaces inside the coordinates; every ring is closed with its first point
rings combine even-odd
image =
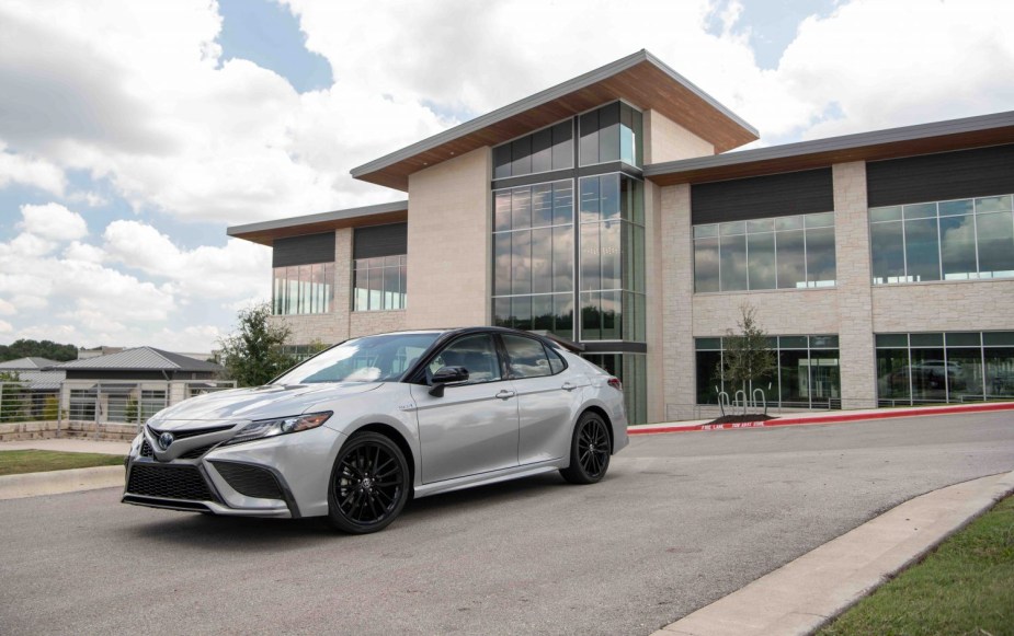
{"type": "Polygon", "coordinates": [[[354,338],[270,384],[194,397],[134,440],[123,501],[375,532],[424,497],[549,471],[602,479],[626,447],[619,381],[497,327],[354,338]]]}

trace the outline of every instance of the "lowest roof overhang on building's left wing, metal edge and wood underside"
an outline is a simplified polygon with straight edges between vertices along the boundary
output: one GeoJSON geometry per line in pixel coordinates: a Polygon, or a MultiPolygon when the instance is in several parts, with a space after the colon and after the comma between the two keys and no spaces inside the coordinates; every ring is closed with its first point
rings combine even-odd
{"type": "Polygon", "coordinates": [[[335,210],[319,215],[304,217],[289,217],[274,221],[232,226],[226,230],[229,236],[243,239],[261,245],[271,246],[275,239],[287,236],[301,236],[304,234],[319,234],[333,232],[342,228],[360,228],[365,226],[384,226],[387,223],[403,223],[408,221],[409,203],[407,200],[390,204],[365,206],[335,210]]]}

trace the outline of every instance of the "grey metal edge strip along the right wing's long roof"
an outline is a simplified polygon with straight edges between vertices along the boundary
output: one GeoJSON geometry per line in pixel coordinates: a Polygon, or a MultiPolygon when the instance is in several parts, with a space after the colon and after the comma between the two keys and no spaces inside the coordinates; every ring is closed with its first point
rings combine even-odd
{"type": "Polygon", "coordinates": [[[1004,126],[1014,126],[1014,111],[976,115],[973,117],[962,117],[959,119],[945,119],[943,122],[931,122],[928,124],[900,126],[898,128],[885,128],[868,132],[853,132],[840,137],[825,137],[810,141],[797,141],[781,146],[770,146],[767,148],[754,148],[752,150],[738,150],[725,152],[722,154],[681,159],[663,163],[652,163],[645,166],[643,173],[646,177],[651,177],[690,170],[738,165],[752,163],[754,161],[786,159],[818,152],[851,150],[879,143],[959,135],[961,132],[989,130],[990,128],[1001,128],[1004,126]]]}

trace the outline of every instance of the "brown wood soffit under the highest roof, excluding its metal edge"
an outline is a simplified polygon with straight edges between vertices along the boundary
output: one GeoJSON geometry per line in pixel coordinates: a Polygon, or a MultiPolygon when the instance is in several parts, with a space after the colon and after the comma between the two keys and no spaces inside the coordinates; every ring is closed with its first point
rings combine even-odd
{"type": "Polygon", "coordinates": [[[727,116],[650,60],[577,89],[523,113],[446,141],[412,157],[356,175],[356,178],[408,192],[409,175],[483,146],[497,146],[560,119],[573,117],[622,99],[645,111],[653,109],[725,152],[754,141],[756,135],[727,116]]]}

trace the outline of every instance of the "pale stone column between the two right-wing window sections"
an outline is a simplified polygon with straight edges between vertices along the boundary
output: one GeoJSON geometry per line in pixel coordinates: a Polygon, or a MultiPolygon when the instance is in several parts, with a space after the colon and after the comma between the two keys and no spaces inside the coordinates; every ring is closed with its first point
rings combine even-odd
{"type": "Polygon", "coordinates": [[[842,408],[874,408],[877,406],[877,369],[866,163],[836,163],[831,170],[834,180],[842,408]]]}

